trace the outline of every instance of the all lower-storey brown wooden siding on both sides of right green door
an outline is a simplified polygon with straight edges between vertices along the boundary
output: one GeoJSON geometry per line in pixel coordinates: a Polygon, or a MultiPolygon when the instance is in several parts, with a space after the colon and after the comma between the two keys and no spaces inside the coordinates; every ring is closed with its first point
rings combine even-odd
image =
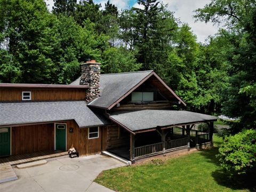
{"type": "MultiPolygon", "coordinates": [[[[63,121],[67,127],[67,150],[75,147],[79,155],[99,154],[101,146],[106,149],[107,127],[99,129],[99,138],[88,139],[88,128],[80,129],[75,121],[63,121]],[[69,129],[73,128],[73,133],[69,129]],[[101,144],[102,131],[104,141],[101,144]]],[[[102,138],[102,139],[103,139],[102,138]]],[[[54,123],[12,127],[12,155],[54,150],[54,123]]]]}

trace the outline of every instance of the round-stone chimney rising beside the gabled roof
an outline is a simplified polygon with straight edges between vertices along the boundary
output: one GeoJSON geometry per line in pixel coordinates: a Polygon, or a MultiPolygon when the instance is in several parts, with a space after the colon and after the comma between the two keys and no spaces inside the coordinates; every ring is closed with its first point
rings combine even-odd
{"type": "Polygon", "coordinates": [[[95,60],[86,61],[81,64],[82,75],[80,85],[88,85],[89,89],[86,91],[86,101],[89,102],[100,94],[100,63],[95,60]]]}

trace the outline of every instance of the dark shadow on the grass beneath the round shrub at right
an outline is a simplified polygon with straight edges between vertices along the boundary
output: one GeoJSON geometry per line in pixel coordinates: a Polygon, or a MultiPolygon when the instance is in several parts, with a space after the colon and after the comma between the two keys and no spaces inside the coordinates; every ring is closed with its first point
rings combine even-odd
{"type": "Polygon", "coordinates": [[[218,183],[218,185],[225,186],[230,189],[247,189],[249,191],[256,191],[256,172],[243,175],[231,175],[229,172],[225,172],[219,163],[216,155],[219,153],[219,148],[214,147],[212,149],[204,149],[201,151],[201,155],[206,157],[210,163],[219,166],[219,169],[212,172],[212,177],[218,183]]]}

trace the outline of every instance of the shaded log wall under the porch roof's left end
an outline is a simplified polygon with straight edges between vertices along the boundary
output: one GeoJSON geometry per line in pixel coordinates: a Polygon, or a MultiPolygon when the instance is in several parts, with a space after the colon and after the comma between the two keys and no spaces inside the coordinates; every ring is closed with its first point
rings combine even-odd
{"type": "Polygon", "coordinates": [[[111,125],[107,127],[107,146],[106,149],[113,149],[123,146],[129,146],[130,142],[130,133],[127,132],[126,135],[120,135],[119,129],[123,129],[122,127],[118,127],[117,125],[111,125]]]}

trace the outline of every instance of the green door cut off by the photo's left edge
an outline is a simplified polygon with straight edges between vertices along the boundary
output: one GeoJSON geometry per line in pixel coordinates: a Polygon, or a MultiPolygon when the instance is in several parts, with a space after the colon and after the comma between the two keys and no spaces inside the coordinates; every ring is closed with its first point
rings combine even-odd
{"type": "Polygon", "coordinates": [[[10,131],[10,127],[0,128],[0,156],[11,155],[10,131]]]}

